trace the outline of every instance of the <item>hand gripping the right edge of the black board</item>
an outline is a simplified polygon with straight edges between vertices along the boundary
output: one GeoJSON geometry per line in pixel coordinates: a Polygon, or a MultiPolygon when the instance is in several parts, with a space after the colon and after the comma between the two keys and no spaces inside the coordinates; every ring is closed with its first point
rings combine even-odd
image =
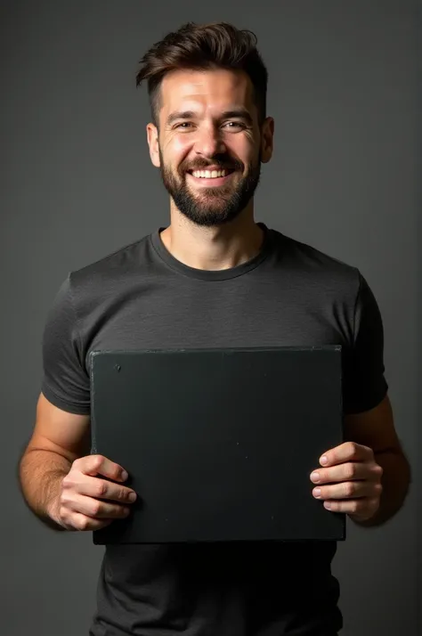
{"type": "Polygon", "coordinates": [[[324,501],[325,508],[345,512],[357,521],[366,521],[376,514],[383,490],[383,469],[375,461],[371,448],[345,442],[323,453],[320,463],[323,468],[311,474],[316,486],[312,494],[324,501]],[[315,473],[318,477],[314,477],[315,473]]]}

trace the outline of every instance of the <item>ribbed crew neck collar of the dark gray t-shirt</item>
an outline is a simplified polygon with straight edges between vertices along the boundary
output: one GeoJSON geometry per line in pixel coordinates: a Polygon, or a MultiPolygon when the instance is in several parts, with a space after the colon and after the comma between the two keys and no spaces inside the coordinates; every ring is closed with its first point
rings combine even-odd
{"type": "Polygon", "coordinates": [[[264,241],[256,256],[250,258],[245,263],[222,270],[198,269],[196,267],[191,267],[190,265],[185,265],[182,261],[175,258],[173,254],[170,254],[168,249],[166,249],[166,246],[160,237],[160,233],[166,230],[166,227],[159,227],[158,230],[152,232],[150,234],[150,242],[157,252],[158,257],[160,257],[166,265],[176,272],[202,281],[227,281],[231,278],[236,278],[237,276],[242,276],[245,273],[251,272],[270,254],[272,248],[272,232],[264,223],[257,223],[257,225],[264,230],[264,241]]]}

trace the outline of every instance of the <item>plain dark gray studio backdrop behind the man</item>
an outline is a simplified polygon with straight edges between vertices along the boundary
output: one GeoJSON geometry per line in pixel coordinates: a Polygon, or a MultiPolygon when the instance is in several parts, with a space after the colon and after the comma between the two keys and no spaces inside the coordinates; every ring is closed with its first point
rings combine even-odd
{"type": "MultiPolygon", "coordinates": [[[[39,524],[13,474],[34,423],[41,336],[61,281],[167,224],[166,192],[147,151],[146,88],[134,86],[137,61],[187,20],[228,20],[256,32],[276,120],[256,220],[367,277],[385,323],[396,427],[416,471],[418,6],[11,0],[0,18],[0,631],[81,636],[93,613],[102,549],[91,534],[54,534],[39,524]]],[[[416,501],[415,483],[386,526],[348,525],[334,563],[342,636],[422,633],[416,501]]]]}

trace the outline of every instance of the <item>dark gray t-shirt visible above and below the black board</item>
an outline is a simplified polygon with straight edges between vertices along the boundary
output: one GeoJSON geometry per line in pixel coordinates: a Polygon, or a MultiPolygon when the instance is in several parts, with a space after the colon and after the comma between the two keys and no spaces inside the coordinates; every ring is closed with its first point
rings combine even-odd
{"type": "MultiPolygon", "coordinates": [[[[183,265],[160,228],[69,273],[45,325],[45,397],[89,414],[92,350],[342,345],[344,412],[379,404],[387,391],[384,333],[367,281],[356,267],[260,225],[260,253],[231,269],[183,265]]],[[[342,626],[331,575],[336,549],[336,542],[106,546],[90,634],[331,636],[342,626]]]]}

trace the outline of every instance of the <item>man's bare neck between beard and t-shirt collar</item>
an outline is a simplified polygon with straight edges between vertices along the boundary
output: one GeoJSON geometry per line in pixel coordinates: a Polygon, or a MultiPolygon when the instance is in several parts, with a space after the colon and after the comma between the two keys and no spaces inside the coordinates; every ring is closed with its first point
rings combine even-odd
{"type": "Polygon", "coordinates": [[[167,251],[184,265],[217,271],[256,257],[263,245],[264,231],[250,213],[239,215],[230,224],[203,227],[172,212],[171,223],[160,237],[167,251]]]}

